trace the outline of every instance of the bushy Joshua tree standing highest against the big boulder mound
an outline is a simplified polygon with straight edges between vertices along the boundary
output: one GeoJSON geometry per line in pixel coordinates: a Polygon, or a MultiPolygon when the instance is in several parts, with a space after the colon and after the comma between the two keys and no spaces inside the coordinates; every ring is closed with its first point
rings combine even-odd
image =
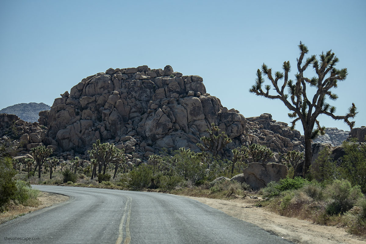
{"type": "Polygon", "coordinates": [[[211,130],[206,129],[209,133],[209,137],[201,137],[203,144],[198,143],[197,146],[201,148],[202,151],[210,151],[214,157],[223,151],[224,147],[231,142],[231,139],[225,134],[225,132],[220,133],[220,129],[215,124],[211,124],[211,130]]]}

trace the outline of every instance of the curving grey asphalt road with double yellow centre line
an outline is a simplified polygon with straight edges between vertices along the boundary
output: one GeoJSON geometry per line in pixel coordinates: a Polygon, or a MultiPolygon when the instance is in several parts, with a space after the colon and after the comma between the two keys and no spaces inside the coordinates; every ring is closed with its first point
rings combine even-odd
{"type": "Polygon", "coordinates": [[[182,196],[81,187],[33,187],[68,195],[71,199],[0,225],[0,243],[291,243],[182,196]],[[14,237],[23,240],[16,241],[14,237]]]}

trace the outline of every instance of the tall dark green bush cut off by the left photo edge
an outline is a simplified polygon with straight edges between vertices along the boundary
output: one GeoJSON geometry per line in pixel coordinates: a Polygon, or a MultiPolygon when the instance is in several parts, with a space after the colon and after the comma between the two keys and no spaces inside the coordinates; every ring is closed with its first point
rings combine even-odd
{"type": "Polygon", "coordinates": [[[16,194],[15,181],[12,179],[16,171],[12,168],[11,158],[0,158],[0,210],[16,194]]]}

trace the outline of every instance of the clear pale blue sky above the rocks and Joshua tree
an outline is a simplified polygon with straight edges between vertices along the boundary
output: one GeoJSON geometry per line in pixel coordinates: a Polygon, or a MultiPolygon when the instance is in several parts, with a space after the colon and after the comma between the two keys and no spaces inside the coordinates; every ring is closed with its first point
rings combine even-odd
{"type": "MultiPolygon", "coordinates": [[[[202,76],[206,90],[244,117],[271,113],[289,123],[281,101],[249,93],[265,62],[295,70],[298,43],[332,49],[348,78],[335,93],[337,115],[352,102],[366,125],[366,1],[0,1],[0,109],[53,100],[108,68],[169,64],[202,76]]],[[[293,73],[295,74],[295,73],[293,73]]],[[[293,77],[291,74],[291,77],[293,77]]],[[[312,72],[309,72],[313,76],[312,72]]],[[[310,76],[309,75],[309,76],[310,76]]],[[[323,116],[321,125],[347,130],[323,116]]],[[[301,130],[297,124],[296,129],[301,130]]]]}

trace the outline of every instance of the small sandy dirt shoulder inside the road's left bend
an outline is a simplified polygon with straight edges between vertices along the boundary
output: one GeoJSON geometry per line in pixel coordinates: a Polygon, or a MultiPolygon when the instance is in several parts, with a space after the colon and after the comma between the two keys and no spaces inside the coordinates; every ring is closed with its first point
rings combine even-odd
{"type": "Polygon", "coordinates": [[[37,207],[29,207],[23,205],[11,205],[9,211],[5,213],[0,213],[0,224],[3,224],[6,221],[14,219],[19,215],[24,215],[38,209],[43,209],[45,207],[52,206],[57,203],[65,202],[70,199],[68,196],[49,193],[49,192],[40,192],[38,194],[38,201],[40,204],[37,207]]]}

